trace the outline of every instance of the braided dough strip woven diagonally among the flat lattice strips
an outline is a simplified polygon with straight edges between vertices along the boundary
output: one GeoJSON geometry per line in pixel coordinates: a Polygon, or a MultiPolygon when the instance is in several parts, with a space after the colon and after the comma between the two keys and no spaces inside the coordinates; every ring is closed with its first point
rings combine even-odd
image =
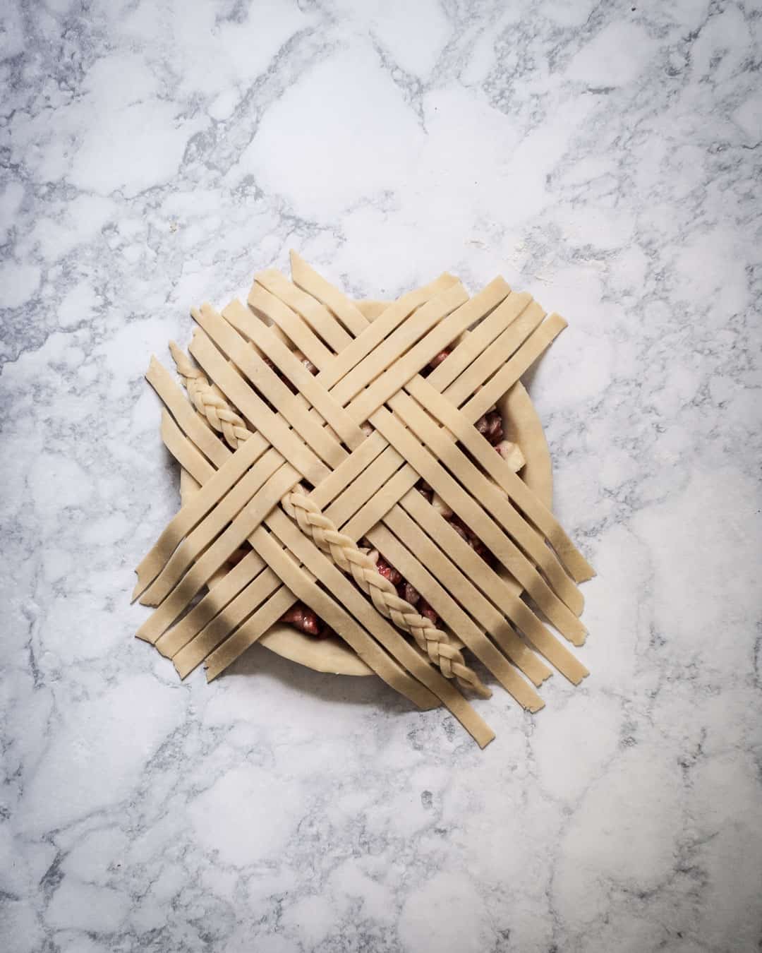
{"type": "MultiPolygon", "coordinates": [[[[170,354],[196,408],[209,419],[215,430],[225,435],[233,450],[251,436],[244,419],[232,409],[222,392],[210,384],[203,372],[192,363],[173,341],[170,354]]],[[[420,615],[414,606],[397,595],[388,578],[381,576],[375,562],[363,553],[349,538],[342,536],[322,516],[318,508],[305,496],[303,490],[291,491],[281,500],[284,510],[297,521],[302,532],[311,536],[319,549],[351,577],[372,599],[375,608],[397,628],[410,633],[418,647],[426,652],[446,679],[456,679],[461,688],[470,689],[482,698],[489,698],[490,690],[466,664],[462,652],[452,644],[451,637],[436,628],[430,618],[420,615]]]]}

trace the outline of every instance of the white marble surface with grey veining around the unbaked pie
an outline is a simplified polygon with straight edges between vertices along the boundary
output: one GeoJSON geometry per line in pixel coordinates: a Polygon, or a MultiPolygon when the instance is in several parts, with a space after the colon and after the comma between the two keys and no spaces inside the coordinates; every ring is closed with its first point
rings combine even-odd
{"type": "Polygon", "coordinates": [[[762,948],[753,0],[2,5],[0,947],[762,948]],[[504,274],[599,570],[592,670],[480,752],[375,679],[132,638],[177,504],[143,380],[298,249],[504,274]]]}

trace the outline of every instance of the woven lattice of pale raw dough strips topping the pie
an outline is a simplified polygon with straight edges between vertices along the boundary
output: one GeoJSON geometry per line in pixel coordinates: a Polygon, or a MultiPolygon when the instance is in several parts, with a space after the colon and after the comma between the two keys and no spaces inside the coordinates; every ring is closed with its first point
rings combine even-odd
{"type": "Polygon", "coordinates": [[[137,569],[134,595],[156,607],[139,638],[213,679],[298,600],[482,745],[491,729],[463,693],[490,693],[471,659],[531,711],[551,674],[541,656],[587,674],[547,623],[584,640],[577,584],[592,568],[474,426],[563,318],[501,278],[470,297],[450,274],[363,310],[295,254],[291,280],[257,274],[248,304],[191,314],[191,356],[171,346],[186,392],[155,359],[147,375],[183,505],[137,569]],[[378,553],[434,618],[378,573],[378,553]]]}

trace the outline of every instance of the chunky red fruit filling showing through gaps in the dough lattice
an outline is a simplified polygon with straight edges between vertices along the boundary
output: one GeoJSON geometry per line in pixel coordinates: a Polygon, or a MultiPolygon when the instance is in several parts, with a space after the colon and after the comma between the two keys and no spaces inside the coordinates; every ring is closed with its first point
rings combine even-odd
{"type": "MultiPolygon", "coordinates": [[[[308,360],[307,357],[302,355],[301,352],[296,352],[296,354],[298,357],[300,357],[302,363],[311,374],[317,374],[317,368],[311,363],[310,360],[308,360]]],[[[438,367],[438,365],[441,364],[442,361],[445,360],[445,358],[450,354],[450,348],[440,351],[440,353],[433,358],[428,368],[422,372],[423,376],[430,374],[431,371],[435,367],[438,367]]],[[[265,357],[265,360],[268,364],[270,364],[272,370],[275,371],[276,374],[282,376],[267,357],[265,357]]],[[[288,381],[285,377],[283,379],[287,384],[289,384],[291,390],[293,390],[290,381],[288,381]]],[[[492,407],[491,410],[489,410],[484,416],[479,417],[474,424],[474,427],[482,436],[489,440],[497,453],[503,454],[505,456],[505,452],[512,447],[512,444],[504,439],[503,419],[496,407],[492,407]]],[[[437,510],[440,516],[445,518],[450,523],[452,529],[454,529],[455,532],[471,546],[471,549],[473,549],[474,552],[483,558],[485,562],[489,563],[490,565],[494,564],[494,557],[492,556],[490,550],[471,530],[471,528],[467,526],[460,517],[457,517],[451,511],[447,503],[445,503],[441,497],[438,497],[433,492],[431,486],[429,486],[428,483],[426,483],[423,479],[420,479],[416,483],[415,489],[423,497],[426,497],[426,499],[431,503],[434,509],[437,510]]],[[[382,576],[385,576],[389,579],[391,584],[396,588],[399,597],[405,599],[406,602],[410,602],[411,605],[414,605],[422,616],[431,618],[433,624],[436,625],[439,621],[439,617],[431,608],[431,605],[429,605],[426,599],[421,597],[421,594],[417,591],[417,589],[415,589],[415,587],[412,586],[407,579],[403,578],[402,574],[393,566],[391,566],[386,559],[377,552],[377,550],[374,550],[367,540],[361,540],[360,546],[370,551],[371,557],[375,559],[376,569],[382,576]]],[[[328,637],[335,635],[331,627],[327,625],[322,618],[317,616],[309,606],[305,605],[304,602],[294,602],[294,604],[291,606],[291,609],[281,616],[280,621],[288,622],[293,626],[294,629],[298,629],[299,632],[303,632],[305,635],[312,636],[315,639],[327,639],[328,637]]]]}

